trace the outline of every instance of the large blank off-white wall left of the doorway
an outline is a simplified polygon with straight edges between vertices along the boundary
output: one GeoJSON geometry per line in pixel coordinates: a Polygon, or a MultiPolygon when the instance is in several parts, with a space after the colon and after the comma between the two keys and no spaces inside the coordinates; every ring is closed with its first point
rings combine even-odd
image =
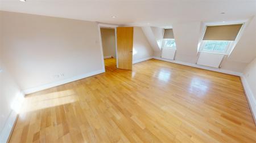
{"type": "Polygon", "coordinates": [[[0,16],[3,60],[22,90],[104,72],[96,22],[4,11],[0,16]]]}

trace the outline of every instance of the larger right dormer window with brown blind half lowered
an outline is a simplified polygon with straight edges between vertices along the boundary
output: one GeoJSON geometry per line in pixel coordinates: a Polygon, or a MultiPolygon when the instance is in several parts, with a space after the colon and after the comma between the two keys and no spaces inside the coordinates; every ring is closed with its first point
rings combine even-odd
{"type": "Polygon", "coordinates": [[[241,27],[242,24],[207,26],[199,51],[228,55],[241,27]]]}

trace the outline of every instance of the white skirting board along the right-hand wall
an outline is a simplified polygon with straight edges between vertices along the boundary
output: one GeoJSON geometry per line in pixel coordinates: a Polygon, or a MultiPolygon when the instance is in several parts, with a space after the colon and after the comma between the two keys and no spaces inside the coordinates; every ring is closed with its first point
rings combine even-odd
{"type": "Polygon", "coordinates": [[[254,98],[253,92],[251,91],[251,88],[247,83],[247,80],[244,75],[241,76],[241,81],[243,89],[245,90],[247,101],[249,102],[250,105],[251,114],[253,114],[254,123],[256,125],[256,99],[254,98]]]}

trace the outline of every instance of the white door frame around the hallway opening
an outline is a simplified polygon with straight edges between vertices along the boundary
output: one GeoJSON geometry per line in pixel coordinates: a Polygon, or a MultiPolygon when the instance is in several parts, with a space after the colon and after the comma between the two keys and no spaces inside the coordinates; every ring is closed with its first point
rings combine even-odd
{"type": "Polygon", "coordinates": [[[102,39],[101,39],[101,28],[114,28],[115,29],[115,57],[117,59],[117,68],[118,68],[117,27],[118,27],[118,25],[114,25],[114,24],[98,23],[98,35],[99,35],[99,38],[100,38],[101,57],[102,57],[102,63],[103,63],[102,69],[104,69],[104,72],[105,72],[105,62],[104,62],[103,46],[102,46],[102,39]]]}

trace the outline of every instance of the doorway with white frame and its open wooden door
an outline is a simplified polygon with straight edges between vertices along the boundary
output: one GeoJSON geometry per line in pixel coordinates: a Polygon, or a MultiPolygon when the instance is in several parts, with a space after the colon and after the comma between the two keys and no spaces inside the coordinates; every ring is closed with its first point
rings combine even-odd
{"type": "Polygon", "coordinates": [[[133,27],[98,24],[98,31],[104,70],[106,68],[132,70],[133,27]]]}

